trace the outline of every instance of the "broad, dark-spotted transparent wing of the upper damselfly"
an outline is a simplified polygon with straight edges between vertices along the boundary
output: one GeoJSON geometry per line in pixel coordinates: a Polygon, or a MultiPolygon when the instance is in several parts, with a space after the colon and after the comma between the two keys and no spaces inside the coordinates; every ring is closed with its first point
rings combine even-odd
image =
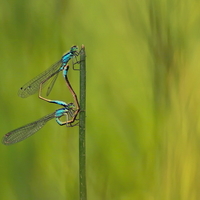
{"type": "Polygon", "coordinates": [[[26,98],[29,95],[34,94],[39,90],[40,84],[57,74],[61,70],[61,67],[62,60],[58,61],[50,68],[48,68],[32,80],[30,80],[28,83],[26,83],[24,86],[22,86],[18,91],[18,95],[22,98],[26,98]]]}

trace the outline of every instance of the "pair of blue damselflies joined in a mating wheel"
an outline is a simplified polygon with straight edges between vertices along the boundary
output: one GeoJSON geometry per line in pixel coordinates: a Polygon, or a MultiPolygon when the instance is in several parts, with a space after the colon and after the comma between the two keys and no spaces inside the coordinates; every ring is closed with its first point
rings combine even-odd
{"type": "Polygon", "coordinates": [[[49,69],[42,72],[32,80],[30,80],[28,83],[26,83],[23,87],[19,89],[18,95],[22,98],[26,98],[32,94],[35,94],[37,91],[39,92],[39,98],[42,100],[45,100],[49,103],[54,103],[62,106],[62,108],[57,109],[55,112],[46,115],[42,118],[40,118],[37,121],[34,121],[32,123],[29,123],[27,125],[24,125],[20,128],[17,128],[13,131],[8,132],[2,139],[2,143],[5,145],[11,145],[15,144],[17,142],[20,142],[34,133],[36,133],[38,130],[40,130],[49,120],[55,118],[56,122],[59,125],[66,125],[69,127],[75,126],[76,124],[73,124],[76,121],[76,117],[79,113],[80,107],[79,102],[76,96],[76,93],[74,92],[68,77],[67,73],[69,70],[68,62],[73,59],[74,57],[77,57],[79,55],[78,47],[72,46],[70,48],[70,51],[67,52],[62,58],[56,62],[54,65],[52,65],[49,69]],[[50,94],[54,83],[58,77],[59,72],[63,73],[63,77],[65,79],[66,85],[69,88],[73,98],[74,103],[65,103],[64,101],[59,100],[50,100],[47,98],[42,97],[42,86],[44,83],[46,83],[49,79],[52,79],[50,82],[49,87],[47,88],[47,96],[50,94]],[[61,121],[60,118],[66,116],[65,121],[61,121]]]}

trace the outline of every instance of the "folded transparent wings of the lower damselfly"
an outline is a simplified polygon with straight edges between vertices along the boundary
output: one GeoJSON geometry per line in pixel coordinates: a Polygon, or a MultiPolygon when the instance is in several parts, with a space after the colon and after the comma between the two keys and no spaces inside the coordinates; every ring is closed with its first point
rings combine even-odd
{"type": "Polygon", "coordinates": [[[38,130],[40,130],[49,120],[53,119],[55,117],[55,112],[51,113],[49,115],[46,115],[42,117],[41,119],[32,122],[30,124],[27,124],[25,126],[22,126],[20,128],[17,128],[9,133],[7,133],[3,139],[2,143],[5,145],[11,145],[15,144],[17,142],[20,142],[34,133],[36,133],[38,130]]]}

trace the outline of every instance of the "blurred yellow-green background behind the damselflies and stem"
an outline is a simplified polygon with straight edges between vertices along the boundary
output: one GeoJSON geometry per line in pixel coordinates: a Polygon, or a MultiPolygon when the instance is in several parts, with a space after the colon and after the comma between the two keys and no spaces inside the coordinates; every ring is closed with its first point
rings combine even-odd
{"type": "MultiPolygon", "coordinates": [[[[200,197],[200,2],[0,1],[1,136],[59,107],[18,89],[87,53],[87,190],[95,200],[200,197]]],[[[69,72],[79,91],[79,72],[69,72]]],[[[62,76],[50,95],[71,102],[62,76]]],[[[0,145],[0,199],[79,199],[78,127],[0,145]]]]}

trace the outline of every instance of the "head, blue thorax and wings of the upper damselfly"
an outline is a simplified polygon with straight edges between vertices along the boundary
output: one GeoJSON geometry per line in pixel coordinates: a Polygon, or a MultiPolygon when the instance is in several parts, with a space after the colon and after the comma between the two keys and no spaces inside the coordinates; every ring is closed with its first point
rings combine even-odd
{"type": "Polygon", "coordinates": [[[36,93],[39,90],[41,83],[46,82],[47,80],[49,80],[51,77],[54,76],[54,79],[52,80],[50,86],[47,89],[47,96],[48,96],[58,77],[59,72],[64,69],[64,67],[67,65],[70,59],[72,59],[77,55],[78,55],[78,47],[72,46],[70,51],[67,52],[58,62],[56,62],[49,69],[42,72],[41,74],[30,80],[28,83],[26,83],[24,86],[22,86],[19,89],[18,95],[22,98],[25,98],[28,97],[29,95],[36,93]]]}

